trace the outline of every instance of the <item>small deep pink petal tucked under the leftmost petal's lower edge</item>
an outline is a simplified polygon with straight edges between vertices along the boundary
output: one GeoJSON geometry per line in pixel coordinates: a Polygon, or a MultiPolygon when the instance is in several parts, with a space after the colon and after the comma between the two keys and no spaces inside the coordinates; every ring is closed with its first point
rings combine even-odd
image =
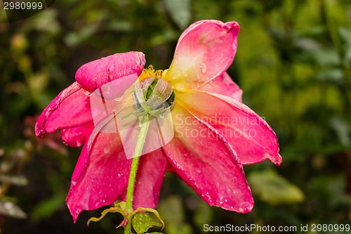
{"type": "Polygon", "coordinates": [[[86,139],[91,135],[93,129],[93,122],[88,122],[88,124],[72,127],[69,129],[62,129],[61,139],[66,145],[69,145],[71,147],[78,147],[86,142],[86,139]]]}

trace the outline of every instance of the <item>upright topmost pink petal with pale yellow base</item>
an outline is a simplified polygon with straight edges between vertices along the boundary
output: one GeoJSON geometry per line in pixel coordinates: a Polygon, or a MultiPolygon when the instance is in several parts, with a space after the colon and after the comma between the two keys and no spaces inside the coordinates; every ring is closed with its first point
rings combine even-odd
{"type": "Polygon", "coordinates": [[[178,40],[173,62],[165,79],[173,89],[199,89],[223,74],[237,52],[237,22],[194,22],[178,40]]]}

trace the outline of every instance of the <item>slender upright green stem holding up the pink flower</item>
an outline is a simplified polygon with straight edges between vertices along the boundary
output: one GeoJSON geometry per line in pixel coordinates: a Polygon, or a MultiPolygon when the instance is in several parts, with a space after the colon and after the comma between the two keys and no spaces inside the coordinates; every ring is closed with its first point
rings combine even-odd
{"type": "Polygon", "coordinates": [[[124,229],[124,234],[131,233],[131,221],[133,218],[133,215],[131,215],[131,213],[133,212],[133,193],[134,193],[134,186],[135,186],[135,177],[136,177],[136,171],[138,169],[140,154],[141,154],[141,151],[143,150],[149,125],[150,125],[150,119],[147,119],[147,121],[140,123],[141,129],[139,132],[138,141],[135,146],[133,161],[131,164],[131,173],[129,174],[127,197],[126,197],[126,212],[128,212],[128,216],[127,216],[128,223],[126,224],[126,228],[124,229]]]}

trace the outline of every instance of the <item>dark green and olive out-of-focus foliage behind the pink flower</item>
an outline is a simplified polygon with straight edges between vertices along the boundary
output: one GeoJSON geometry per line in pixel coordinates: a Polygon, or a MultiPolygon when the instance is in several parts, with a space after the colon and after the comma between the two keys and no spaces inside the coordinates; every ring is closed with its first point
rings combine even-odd
{"type": "Polygon", "coordinates": [[[157,208],[164,232],[351,223],[350,1],[61,0],[11,23],[1,5],[2,233],[123,233],[114,229],[119,214],[86,227],[102,209],[73,223],[65,196],[81,148],[63,145],[58,132],[37,138],[34,123],[84,63],[143,51],[147,65],[166,69],[180,34],[202,19],[239,22],[228,73],[277,133],[283,163],[244,167],[255,200],[249,214],[209,207],[167,174],[157,208]]]}

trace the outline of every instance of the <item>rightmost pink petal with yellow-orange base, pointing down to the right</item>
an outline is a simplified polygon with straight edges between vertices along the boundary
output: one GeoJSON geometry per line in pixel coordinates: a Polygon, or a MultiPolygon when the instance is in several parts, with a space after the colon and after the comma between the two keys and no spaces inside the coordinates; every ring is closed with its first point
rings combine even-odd
{"type": "Polygon", "coordinates": [[[243,103],[204,91],[177,94],[181,105],[227,138],[242,164],[254,164],[264,160],[270,160],[277,165],[282,163],[274,131],[243,103]]]}

